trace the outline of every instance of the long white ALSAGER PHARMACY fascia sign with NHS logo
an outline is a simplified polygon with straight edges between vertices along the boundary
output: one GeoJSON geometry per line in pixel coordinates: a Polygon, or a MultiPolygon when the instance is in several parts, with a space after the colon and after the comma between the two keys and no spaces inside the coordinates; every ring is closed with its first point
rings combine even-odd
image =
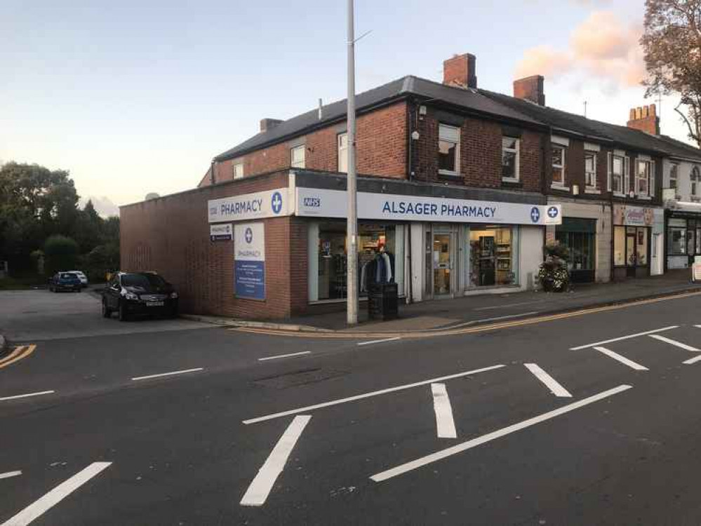
{"type": "MultiPolygon", "coordinates": [[[[297,189],[297,215],[346,217],[342,190],[297,189]]],[[[525,205],[440,197],[358,193],[358,217],[451,223],[561,224],[560,205],[525,205]]]]}

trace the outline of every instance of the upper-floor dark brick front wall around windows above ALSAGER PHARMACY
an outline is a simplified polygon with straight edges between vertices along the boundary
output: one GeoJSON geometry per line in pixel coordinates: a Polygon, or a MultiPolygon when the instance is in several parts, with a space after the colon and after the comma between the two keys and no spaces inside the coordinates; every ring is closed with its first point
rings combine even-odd
{"type": "MultiPolygon", "coordinates": [[[[502,125],[493,121],[465,118],[460,130],[460,177],[439,175],[438,142],[439,118],[429,108],[423,119],[416,123],[420,139],[413,142],[413,172],[422,181],[462,182],[470,187],[514,188],[502,183],[502,125]]],[[[540,191],[542,174],[543,135],[532,130],[521,130],[519,150],[520,185],[528,191],[540,191]]]]}

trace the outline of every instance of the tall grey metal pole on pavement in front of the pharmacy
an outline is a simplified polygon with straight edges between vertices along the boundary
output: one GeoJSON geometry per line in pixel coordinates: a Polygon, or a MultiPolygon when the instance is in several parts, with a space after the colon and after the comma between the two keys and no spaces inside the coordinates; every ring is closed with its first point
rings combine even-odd
{"type": "Polygon", "coordinates": [[[353,1],[348,0],[348,223],[347,231],[347,322],[358,323],[358,207],[355,171],[355,30],[353,1]]]}

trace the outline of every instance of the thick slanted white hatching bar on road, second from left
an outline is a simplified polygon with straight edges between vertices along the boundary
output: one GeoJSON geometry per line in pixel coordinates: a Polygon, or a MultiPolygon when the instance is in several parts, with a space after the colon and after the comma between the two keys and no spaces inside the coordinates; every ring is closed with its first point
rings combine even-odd
{"type": "Polygon", "coordinates": [[[255,476],[253,482],[248,486],[246,494],[241,499],[241,506],[262,506],[265,504],[270,490],[272,490],[275,480],[282,473],[293,447],[297,443],[298,438],[304,431],[305,426],[309,424],[312,417],[308,414],[298,414],[287,427],[278,443],[270,452],[269,457],[265,460],[258,475],[255,476]]]}

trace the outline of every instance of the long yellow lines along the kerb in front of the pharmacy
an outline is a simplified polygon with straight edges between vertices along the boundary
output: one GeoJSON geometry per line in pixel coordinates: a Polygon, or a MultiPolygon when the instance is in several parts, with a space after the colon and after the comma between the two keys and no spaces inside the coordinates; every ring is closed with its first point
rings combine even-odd
{"type": "Polygon", "coordinates": [[[667,302],[671,299],[680,299],[684,297],[701,295],[701,292],[685,292],[683,294],[675,296],[665,296],[657,297],[651,299],[639,299],[634,302],[607,305],[600,307],[592,307],[589,309],[580,309],[578,311],[563,312],[559,314],[551,314],[548,316],[537,316],[535,318],[526,318],[523,320],[516,321],[505,321],[502,323],[492,323],[490,325],[479,325],[478,327],[462,328],[462,329],[443,329],[443,330],[425,330],[417,332],[292,332],[285,330],[276,329],[262,329],[262,328],[237,328],[231,329],[236,332],[251,332],[261,335],[272,335],[272,336],[286,336],[286,337],[299,337],[299,338],[329,338],[329,339],[368,339],[368,338],[389,338],[389,337],[401,337],[403,339],[409,338],[428,338],[432,336],[455,336],[455,335],[469,335],[475,334],[477,332],[488,332],[492,330],[508,329],[513,327],[523,327],[523,325],[533,325],[535,323],[543,323],[546,321],[563,320],[566,318],[575,318],[576,316],[585,316],[587,314],[595,314],[599,312],[606,311],[616,311],[618,309],[627,309],[632,306],[647,305],[650,303],[657,302],[667,302]]]}

